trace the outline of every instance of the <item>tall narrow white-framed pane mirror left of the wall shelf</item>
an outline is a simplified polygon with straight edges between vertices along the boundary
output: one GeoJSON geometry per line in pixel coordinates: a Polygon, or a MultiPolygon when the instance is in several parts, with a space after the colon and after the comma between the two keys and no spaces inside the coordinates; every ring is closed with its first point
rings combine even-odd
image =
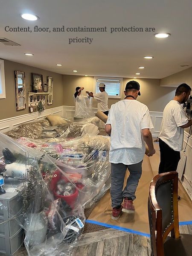
{"type": "Polygon", "coordinates": [[[26,109],[25,72],[15,71],[16,109],[26,109]]]}

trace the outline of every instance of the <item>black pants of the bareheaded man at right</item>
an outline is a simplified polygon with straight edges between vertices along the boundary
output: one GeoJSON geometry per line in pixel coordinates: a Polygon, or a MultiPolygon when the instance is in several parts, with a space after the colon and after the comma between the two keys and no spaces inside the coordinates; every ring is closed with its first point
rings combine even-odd
{"type": "Polygon", "coordinates": [[[176,171],[177,165],[180,160],[180,151],[173,150],[161,139],[159,139],[159,148],[160,148],[159,173],[176,171]]]}

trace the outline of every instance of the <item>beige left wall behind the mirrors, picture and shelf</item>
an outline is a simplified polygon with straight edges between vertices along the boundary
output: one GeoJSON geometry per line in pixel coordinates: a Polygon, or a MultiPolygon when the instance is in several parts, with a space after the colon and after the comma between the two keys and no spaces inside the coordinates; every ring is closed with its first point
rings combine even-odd
{"type": "Polygon", "coordinates": [[[7,60],[4,60],[4,68],[6,99],[0,99],[0,119],[5,119],[13,116],[20,116],[29,113],[28,92],[32,91],[31,73],[43,75],[44,81],[47,81],[47,76],[53,77],[53,104],[47,105],[47,103],[45,103],[45,108],[48,109],[63,105],[63,75],[7,60]],[[25,72],[26,76],[26,109],[20,111],[16,111],[15,70],[25,72]]]}

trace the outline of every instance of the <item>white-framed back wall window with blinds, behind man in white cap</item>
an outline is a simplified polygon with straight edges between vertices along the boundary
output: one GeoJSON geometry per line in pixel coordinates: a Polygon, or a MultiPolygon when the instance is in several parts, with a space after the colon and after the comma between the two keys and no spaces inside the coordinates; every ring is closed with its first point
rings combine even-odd
{"type": "Polygon", "coordinates": [[[95,93],[99,93],[99,84],[105,84],[105,91],[109,98],[120,99],[122,78],[116,77],[95,77],[95,93]]]}

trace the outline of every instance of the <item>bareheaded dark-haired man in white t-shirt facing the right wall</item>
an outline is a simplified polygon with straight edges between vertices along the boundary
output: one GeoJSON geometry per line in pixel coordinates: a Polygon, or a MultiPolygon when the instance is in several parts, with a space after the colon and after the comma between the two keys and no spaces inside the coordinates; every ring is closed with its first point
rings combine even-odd
{"type": "Polygon", "coordinates": [[[189,98],[190,93],[191,87],[188,84],[180,84],[176,89],[174,99],[164,108],[159,135],[159,173],[177,170],[180,151],[183,148],[184,128],[192,125],[192,120],[188,120],[181,106],[189,98]]]}

